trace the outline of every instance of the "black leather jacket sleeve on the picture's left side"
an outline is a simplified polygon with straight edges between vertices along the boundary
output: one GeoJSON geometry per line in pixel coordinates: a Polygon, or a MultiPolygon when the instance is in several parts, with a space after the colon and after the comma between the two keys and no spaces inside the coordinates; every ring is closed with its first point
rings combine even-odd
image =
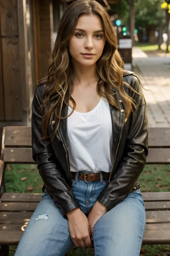
{"type": "Polygon", "coordinates": [[[53,151],[50,139],[40,140],[43,137],[41,130],[43,114],[39,110],[41,104],[41,89],[38,86],[32,102],[33,160],[38,164],[39,174],[48,195],[51,196],[55,205],[61,209],[62,215],[66,218],[66,214],[79,207],[79,204],[65,179],[64,170],[53,151]]]}

